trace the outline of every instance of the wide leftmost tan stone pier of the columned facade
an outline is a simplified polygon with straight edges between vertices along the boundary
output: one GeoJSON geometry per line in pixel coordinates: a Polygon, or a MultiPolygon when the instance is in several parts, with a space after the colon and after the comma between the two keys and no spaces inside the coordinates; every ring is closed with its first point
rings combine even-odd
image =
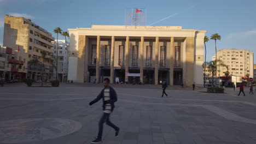
{"type": "MultiPolygon", "coordinates": [[[[84,82],[84,62],[85,62],[85,45],[86,45],[86,36],[79,35],[78,37],[78,59],[77,59],[77,81],[84,82]]],[[[63,76],[62,76],[63,79],[63,76]]]]}

